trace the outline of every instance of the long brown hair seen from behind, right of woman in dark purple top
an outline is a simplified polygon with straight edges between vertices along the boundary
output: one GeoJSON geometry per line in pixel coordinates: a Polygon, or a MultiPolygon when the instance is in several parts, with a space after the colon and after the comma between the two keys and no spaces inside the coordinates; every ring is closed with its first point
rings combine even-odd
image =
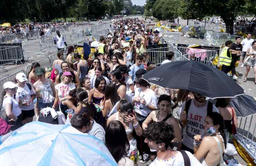
{"type": "Polygon", "coordinates": [[[110,99],[112,105],[115,105],[120,100],[116,85],[113,83],[108,83],[105,88],[105,101],[108,99],[110,99]]]}

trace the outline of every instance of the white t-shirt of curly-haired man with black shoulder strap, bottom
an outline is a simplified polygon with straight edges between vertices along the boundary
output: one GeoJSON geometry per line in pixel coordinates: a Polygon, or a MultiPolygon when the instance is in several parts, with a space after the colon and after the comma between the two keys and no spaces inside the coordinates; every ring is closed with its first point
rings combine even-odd
{"type": "MultiPolygon", "coordinates": [[[[185,151],[189,156],[190,165],[202,166],[202,164],[193,156],[189,151],[185,151]]],[[[180,151],[177,154],[167,160],[156,159],[149,166],[184,166],[184,159],[180,151]]]]}

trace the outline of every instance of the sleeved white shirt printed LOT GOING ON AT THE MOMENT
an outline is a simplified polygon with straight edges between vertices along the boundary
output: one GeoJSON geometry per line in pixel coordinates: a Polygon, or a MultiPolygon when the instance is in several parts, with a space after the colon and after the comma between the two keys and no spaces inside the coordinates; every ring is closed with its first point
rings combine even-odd
{"type": "MultiPolygon", "coordinates": [[[[204,131],[204,118],[207,115],[207,106],[208,102],[203,107],[196,107],[194,105],[194,99],[192,99],[190,107],[189,107],[189,114],[188,114],[188,122],[186,124],[186,134],[184,134],[182,143],[189,147],[190,149],[194,148],[194,136],[198,134],[202,134],[204,131]]],[[[185,102],[182,104],[180,112],[183,112],[185,109],[185,102]]],[[[212,112],[218,112],[219,110],[212,105],[212,112]]]]}

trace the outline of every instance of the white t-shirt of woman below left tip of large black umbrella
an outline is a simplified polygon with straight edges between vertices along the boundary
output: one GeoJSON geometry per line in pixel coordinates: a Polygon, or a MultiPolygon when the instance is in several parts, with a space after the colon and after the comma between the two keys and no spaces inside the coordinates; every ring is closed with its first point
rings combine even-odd
{"type": "MultiPolygon", "coordinates": [[[[149,89],[149,91],[147,93],[144,93],[141,91],[140,88],[136,88],[135,89],[135,94],[134,94],[134,98],[135,97],[140,97],[143,98],[144,100],[146,100],[146,102],[149,105],[153,105],[155,108],[157,108],[157,97],[154,91],[152,91],[151,89],[149,89]]],[[[150,110],[146,105],[144,104],[140,104],[139,102],[136,102],[135,104],[135,112],[139,113],[140,115],[147,117],[148,114],[151,112],[152,110],[150,110]],[[143,106],[142,109],[140,109],[140,105],[143,106]]]]}

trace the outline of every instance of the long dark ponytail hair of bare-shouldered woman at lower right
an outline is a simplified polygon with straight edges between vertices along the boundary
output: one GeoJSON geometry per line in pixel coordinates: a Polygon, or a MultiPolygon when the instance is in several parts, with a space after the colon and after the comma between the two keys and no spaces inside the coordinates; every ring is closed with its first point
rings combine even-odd
{"type": "Polygon", "coordinates": [[[226,148],[227,147],[227,140],[226,140],[226,135],[225,135],[225,132],[224,132],[225,124],[224,124],[223,117],[221,116],[221,114],[219,114],[217,112],[209,113],[209,114],[207,114],[207,116],[209,118],[211,118],[214,126],[219,124],[219,126],[220,126],[219,127],[219,132],[220,132],[220,135],[222,136],[222,138],[224,140],[224,145],[225,145],[225,148],[226,148]]]}

